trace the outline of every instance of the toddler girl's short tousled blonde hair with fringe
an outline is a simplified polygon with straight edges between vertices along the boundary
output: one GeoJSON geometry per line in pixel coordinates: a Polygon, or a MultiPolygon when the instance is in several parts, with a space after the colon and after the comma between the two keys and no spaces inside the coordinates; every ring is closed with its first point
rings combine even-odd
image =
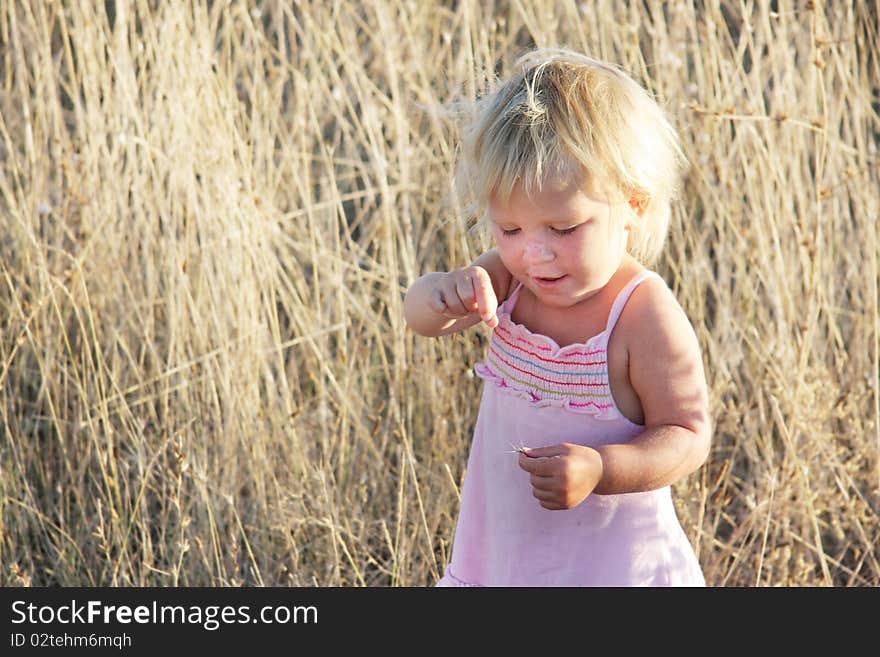
{"type": "Polygon", "coordinates": [[[465,127],[456,183],[470,213],[484,219],[489,198],[518,182],[530,193],[587,174],[616,202],[641,203],[627,249],[655,260],[687,166],[663,110],[620,68],[571,50],[535,50],[514,68],[465,127]]]}

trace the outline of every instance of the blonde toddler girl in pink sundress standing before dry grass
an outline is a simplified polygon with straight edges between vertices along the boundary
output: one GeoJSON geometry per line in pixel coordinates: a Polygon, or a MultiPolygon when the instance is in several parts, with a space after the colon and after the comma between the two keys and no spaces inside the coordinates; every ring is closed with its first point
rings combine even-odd
{"type": "Polygon", "coordinates": [[[706,459],[696,335],[659,275],[684,157],[617,67],[522,57],[477,105],[460,180],[495,248],[407,291],[424,336],[493,329],[441,586],[702,586],[670,485],[706,459]]]}

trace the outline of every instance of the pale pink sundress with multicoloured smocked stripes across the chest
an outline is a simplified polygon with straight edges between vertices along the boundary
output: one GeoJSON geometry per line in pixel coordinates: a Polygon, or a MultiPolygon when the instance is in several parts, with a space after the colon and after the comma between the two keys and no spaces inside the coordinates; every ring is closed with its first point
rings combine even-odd
{"type": "Polygon", "coordinates": [[[669,487],[590,495],[565,511],[532,496],[516,447],[562,442],[598,446],[631,440],[644,428],[611,397],[605,350],[635,287],[614,301],[605,330],[559,347],[511,321],[522,289],[498,309],[486,380],[462,490],[452,560],[438,586],[704,586],[703,573],[672,504],[669,487]]]}

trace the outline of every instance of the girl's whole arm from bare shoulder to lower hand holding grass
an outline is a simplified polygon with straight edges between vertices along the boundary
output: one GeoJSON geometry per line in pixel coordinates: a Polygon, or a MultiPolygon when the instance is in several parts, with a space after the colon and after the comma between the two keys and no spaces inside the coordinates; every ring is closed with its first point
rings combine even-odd
{"type": "Polygon", "coordinates": [[[665,286],[646,281],[625,314],[630,384],[645,429],[627,443],[596,449],[565,443],[521,454],[520,467],[531,474],[533,493],[547,509],[572,508],[591,493],[668,486],[708,456],[708,391],[699,343],[684,311],[665,286]]]}

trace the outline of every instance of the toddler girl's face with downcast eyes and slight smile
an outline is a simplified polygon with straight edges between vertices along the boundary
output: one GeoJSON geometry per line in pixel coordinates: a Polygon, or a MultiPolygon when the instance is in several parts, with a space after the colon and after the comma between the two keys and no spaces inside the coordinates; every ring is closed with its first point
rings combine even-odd
{"type": "Polygon", "coordinates": [[[543,303],[573,306],[599,292],[626,255],[628,214],[590,191],[587,180],[545,183],[507,201],[489,200],[488,214],[507,269],[543,303]]]}

